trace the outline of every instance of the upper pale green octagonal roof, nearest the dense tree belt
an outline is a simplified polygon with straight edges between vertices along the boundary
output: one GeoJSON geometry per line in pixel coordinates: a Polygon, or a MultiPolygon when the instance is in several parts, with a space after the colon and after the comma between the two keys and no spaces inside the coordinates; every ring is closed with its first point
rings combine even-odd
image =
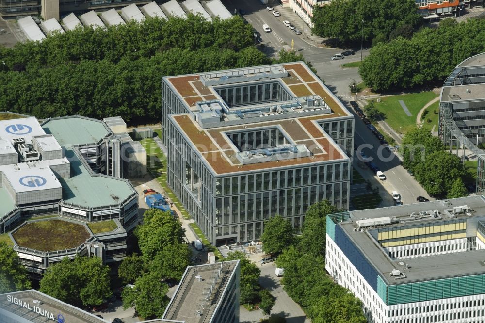
{"type": "Polygon", "coordinates": [[[110,133],[103,121],[81,116],[49,119],[42,128],[52,133],[59,145],[64,147],[93,144],[110,133]]]}

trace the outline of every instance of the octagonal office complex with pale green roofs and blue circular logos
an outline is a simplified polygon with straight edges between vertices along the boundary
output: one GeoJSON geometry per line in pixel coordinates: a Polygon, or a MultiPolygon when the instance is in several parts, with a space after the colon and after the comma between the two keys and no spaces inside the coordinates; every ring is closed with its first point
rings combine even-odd
{"type": "Polygon", "coordinates": [[[18,245],[11,236],[33,277],[76,253],[96,255],[104,263],[125,257],[126,239],[138,224],[138,194],[121,176],[123,168],[141,168],[136,158],[123,158],[133,157],[132,141],[123,139],[129,137],[123,131],[126,125],[119,117],[106,122],[80,116],[42,123],[34,117],[0,121],[0,233],[13,230],[15,235],[25,220],[43,214],[75,220],[80,226],[113,222],[109,232],[86,229],[92,239],[61,251],[18,245]]]}

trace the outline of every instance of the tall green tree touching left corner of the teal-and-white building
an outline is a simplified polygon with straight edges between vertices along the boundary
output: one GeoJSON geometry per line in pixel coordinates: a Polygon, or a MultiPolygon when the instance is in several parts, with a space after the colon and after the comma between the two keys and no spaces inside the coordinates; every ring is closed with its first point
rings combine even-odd
{"type": "Polygon", "coordinates": [[[303,222],[303,234],[299,240],[303,253],[325,257],[326,216],[340,211],[328,200],[322,200],[308,208],[303,222]]]}

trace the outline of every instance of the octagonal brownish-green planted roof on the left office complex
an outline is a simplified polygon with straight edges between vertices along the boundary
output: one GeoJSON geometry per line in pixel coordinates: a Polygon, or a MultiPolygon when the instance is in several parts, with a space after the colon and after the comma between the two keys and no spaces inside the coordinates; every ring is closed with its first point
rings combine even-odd
{"type": "Polygon", "coordinates": [[[28,223],[13,236],[19,246],[41,251],[75,248],[90,237],[84,226],[62,220],[28,223]]]}

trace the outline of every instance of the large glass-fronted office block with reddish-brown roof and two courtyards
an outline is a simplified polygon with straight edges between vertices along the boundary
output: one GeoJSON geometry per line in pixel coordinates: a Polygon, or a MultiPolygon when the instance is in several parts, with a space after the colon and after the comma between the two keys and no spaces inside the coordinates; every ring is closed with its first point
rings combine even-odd
{"type": "Polygon", "coordinates": [[[354,117],[303,62],[164,77],[162,130],[167,182],[214,244],[349,207],[354,117]]]}

